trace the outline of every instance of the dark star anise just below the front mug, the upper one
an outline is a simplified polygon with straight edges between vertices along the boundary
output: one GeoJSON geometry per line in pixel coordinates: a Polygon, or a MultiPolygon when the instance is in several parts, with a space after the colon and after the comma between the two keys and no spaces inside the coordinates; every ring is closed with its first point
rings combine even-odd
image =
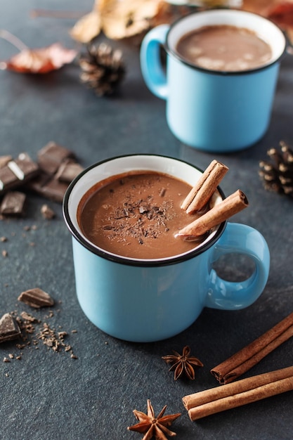
{"type": "Polygon", "coordinates": [[[190,356],[190,347],[185,345],[182,351],[182,355],[178,354],[177,351],[173,350],[174,354],[168,354],[167,356],[162,356],[162,359],[167,363],[172,363],[169,371],[174,370],[174,380],[177,380],[183,373],[188,377],[188,379],[195,379],[195,367],[203,367],[204,365],[199,361],[199,359],[190,356]]]}

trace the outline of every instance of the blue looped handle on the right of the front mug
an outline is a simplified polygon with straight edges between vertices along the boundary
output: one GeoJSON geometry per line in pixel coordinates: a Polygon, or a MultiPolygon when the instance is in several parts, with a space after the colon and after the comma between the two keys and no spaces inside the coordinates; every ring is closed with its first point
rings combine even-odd
{"type": "Polygon", "coordinates": [[[205,306],[212,309],[237,310],[252,304],[261,295],[268,280],[270,252],[266,240],[259,231],[236,223],[226,225],[226,230],[216,243],[211,264],[224,254],[245,254],[254,261],[254,272],[241,282],[220,278],[211,269],[209,292],[205,306]]]}

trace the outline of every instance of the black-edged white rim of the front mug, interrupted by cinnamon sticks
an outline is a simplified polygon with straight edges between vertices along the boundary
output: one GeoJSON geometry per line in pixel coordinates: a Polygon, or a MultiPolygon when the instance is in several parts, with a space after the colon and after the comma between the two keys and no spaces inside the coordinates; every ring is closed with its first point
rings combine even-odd
{"type": "MultiPolygon", "coordinates": [[[[182,261],[191,259],[196,257],[199,254],[202,254],[202,252],[205,252],[209,247],[214,245],[214,243],[219,240],[221,237],[223,231],[226,228],[227,221],[223,221],[217,228],[216,231],[214,231],[211,235],[211,238],[207,238],[206,242],[204,242],[203,245],[200,245],[200,247],[195,247],[194,250],[190,250],[188,252],[184,252],[183,254],[174,255],[172,257],[164,257],[160,259],[136,259],[131,257],[123,257],[118,254],[114,254],[108,251],[103,250],[103,248],[98,247],[96,245],[93,245],[86,237],[79,232],[79,230],[74,226],[74,223],[71,219],[70,212],[69,212],[69,201],[70,201],[70,195],[72,193],[72,190],[74,186],[77,184],[77,182],[82,179],[82,177],[87,174],[91,169],[98,167],[99,165],[105,163],[105,162],[111,162],[112,160],[117,160],[125,157],[161,157],[161,158],[167,158],[171,159],[177,162],[181,162],[183,164],[186,164],[190,167],[193,167],[198,172],[202,173],[202,169],[195,167],[195,165],[190,164],[188,162],[185,162],[181,159],[176,159],[175,157],[169,157],[165,155],[155,155],[155,154],[131,154],[131,155],[120,155],[115,157],[110,157],[109,159],[102,160],[100,162],[96,162],[95,164],[92,164],[90,167],[84,169],[68,186],[64,198],[63,198],[63,216],[65,219],[65,223],[67,224],[67,228],[69,229],[72,236],[87,250],[91,251],[93,254],[98,255],[99,257],[103,257],[105,259],[108,259],[110,261],[115,261],[119,264],[126,264],[127,266],[169,266],[171,264],[180,263],[182,261]]],[[[176,176],[174,176],[176,177],[176,176]]],[[[97,182],[98,183],[98,182],[97,182]]],[[[219,190],[219,195],[221,195],[222,199],[225,199],[226,196],[224,195],[223,191],[220,187],[217,188],[219,190]]]]}

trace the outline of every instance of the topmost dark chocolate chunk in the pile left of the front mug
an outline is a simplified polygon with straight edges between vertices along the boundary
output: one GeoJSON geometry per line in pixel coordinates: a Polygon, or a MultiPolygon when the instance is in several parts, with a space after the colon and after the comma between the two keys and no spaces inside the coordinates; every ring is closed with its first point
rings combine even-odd
{"type": "Polygon", "coordinates": [[[49,142],[39,150],[39,167],[47,174],[55,174],[60,164],[70,157],[74,157],[72,151],[55,142],[49,142]]]}

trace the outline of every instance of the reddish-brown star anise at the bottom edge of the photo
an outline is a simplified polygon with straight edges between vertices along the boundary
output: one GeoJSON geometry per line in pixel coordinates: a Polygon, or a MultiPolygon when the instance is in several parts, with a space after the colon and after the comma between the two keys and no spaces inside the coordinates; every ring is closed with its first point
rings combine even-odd
{"type": "Polygon", "coordinates": [[[136,425],[129,426],[127,429],[130,431],[141,432],[145,434],[142,440],[150,440],[153,437],[158,440],[167,440],[167,435],[176,436],[176,432],[170,431],[167,426],[170,426],[176,418],[180,417],[181,413],[164,415],[167,405],[162,408],[161,412],[155,417],[155,412],[150,403],[150,399],[147,401],[148,413],[141,413],[141,411],[134,410],[134,415],[139,420],[136,425]],[[164,417],[163,417],[164,415],[164,417]]]}

